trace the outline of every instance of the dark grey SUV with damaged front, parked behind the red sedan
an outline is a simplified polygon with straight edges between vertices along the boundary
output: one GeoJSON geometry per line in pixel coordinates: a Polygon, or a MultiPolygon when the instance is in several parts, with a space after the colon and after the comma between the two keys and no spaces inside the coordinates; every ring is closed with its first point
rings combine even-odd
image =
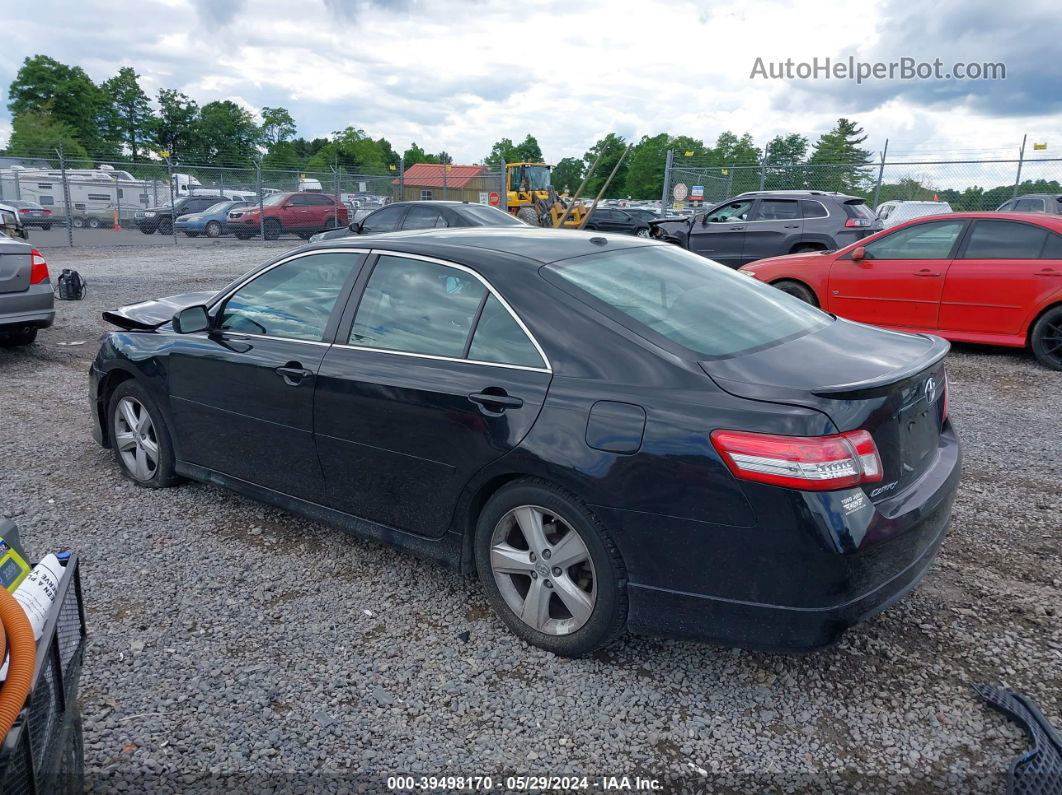
{"type": "Polygon", "coordinates": [[[823,191],[742,193],[687,219],[649,222],[650,234],[731,267],[764,257],[841,248],[883,228],[857,196],[823,191]]]}

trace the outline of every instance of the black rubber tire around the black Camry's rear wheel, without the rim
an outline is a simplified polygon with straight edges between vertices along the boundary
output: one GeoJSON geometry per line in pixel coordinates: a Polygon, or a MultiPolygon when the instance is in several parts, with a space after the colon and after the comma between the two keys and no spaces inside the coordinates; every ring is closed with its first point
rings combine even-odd
{"type": "MultiPolygon", "coordinates": [[[[614,641],[627,625],[627,569],[615,542],[586,505],[552,484],[537,479],[518,480],[495,494],[476,523],[475,554],[480,582],[495,612],[514,635],[531,645],[563,657],[580,657],[614,641]],[[559,517],[578,534],[589,554],[596,587],[594,607],[585,623],[569,634],[550,635],[525,623],[507,604],[491,567],[495,529],[520,506],[535,506],[559,517]]],[[[552,576],[548,567],[547,575],[552,576]]],[[[537,578],[537,574],[531,576],[537,578]]],[[[528,577],[526,582],[532,581],[528,577]]],[[[543,585],[548,584],[544,575],[543,585]]]]}

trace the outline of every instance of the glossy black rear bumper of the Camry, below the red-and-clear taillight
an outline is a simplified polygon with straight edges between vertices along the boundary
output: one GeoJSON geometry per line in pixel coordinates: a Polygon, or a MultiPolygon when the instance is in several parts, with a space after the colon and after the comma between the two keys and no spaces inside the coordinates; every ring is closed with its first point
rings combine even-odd
{"type": "Polygon", "coordinates": [[[859,489],[759,486],[769,490],[749,494],[751,528],[648,515],[633,525],[624,512],[602,509],[628,561],[628,626],[774,652],[828,645],[922,581],[947,533],[960,473],[948,426],[935,465],[876,503],[859,489]],[[650,549],[639,549],[647,540],[650,549]]]}

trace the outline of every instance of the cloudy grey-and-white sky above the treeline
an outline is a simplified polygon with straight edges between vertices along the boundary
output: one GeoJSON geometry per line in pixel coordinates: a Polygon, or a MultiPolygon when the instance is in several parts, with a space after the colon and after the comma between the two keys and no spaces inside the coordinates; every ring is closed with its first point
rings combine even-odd
{"type": "MultiPolygon", "coordinates": [[[[101,81],[133,66],[148,93],[282,105],[301,135],[348,125],[479,161],[534,134],[547,159],[607,132],[763,145],[854,118],[877,151],[1062,156],[1058,0],[35,0],[7,13],[0,82],[46,53],[101,81]],[[791,57],[1004,62],[1007,80],[765,81],[791,57]]],[[[0,139],[11,128],[6,107],[0,139]]]]}

